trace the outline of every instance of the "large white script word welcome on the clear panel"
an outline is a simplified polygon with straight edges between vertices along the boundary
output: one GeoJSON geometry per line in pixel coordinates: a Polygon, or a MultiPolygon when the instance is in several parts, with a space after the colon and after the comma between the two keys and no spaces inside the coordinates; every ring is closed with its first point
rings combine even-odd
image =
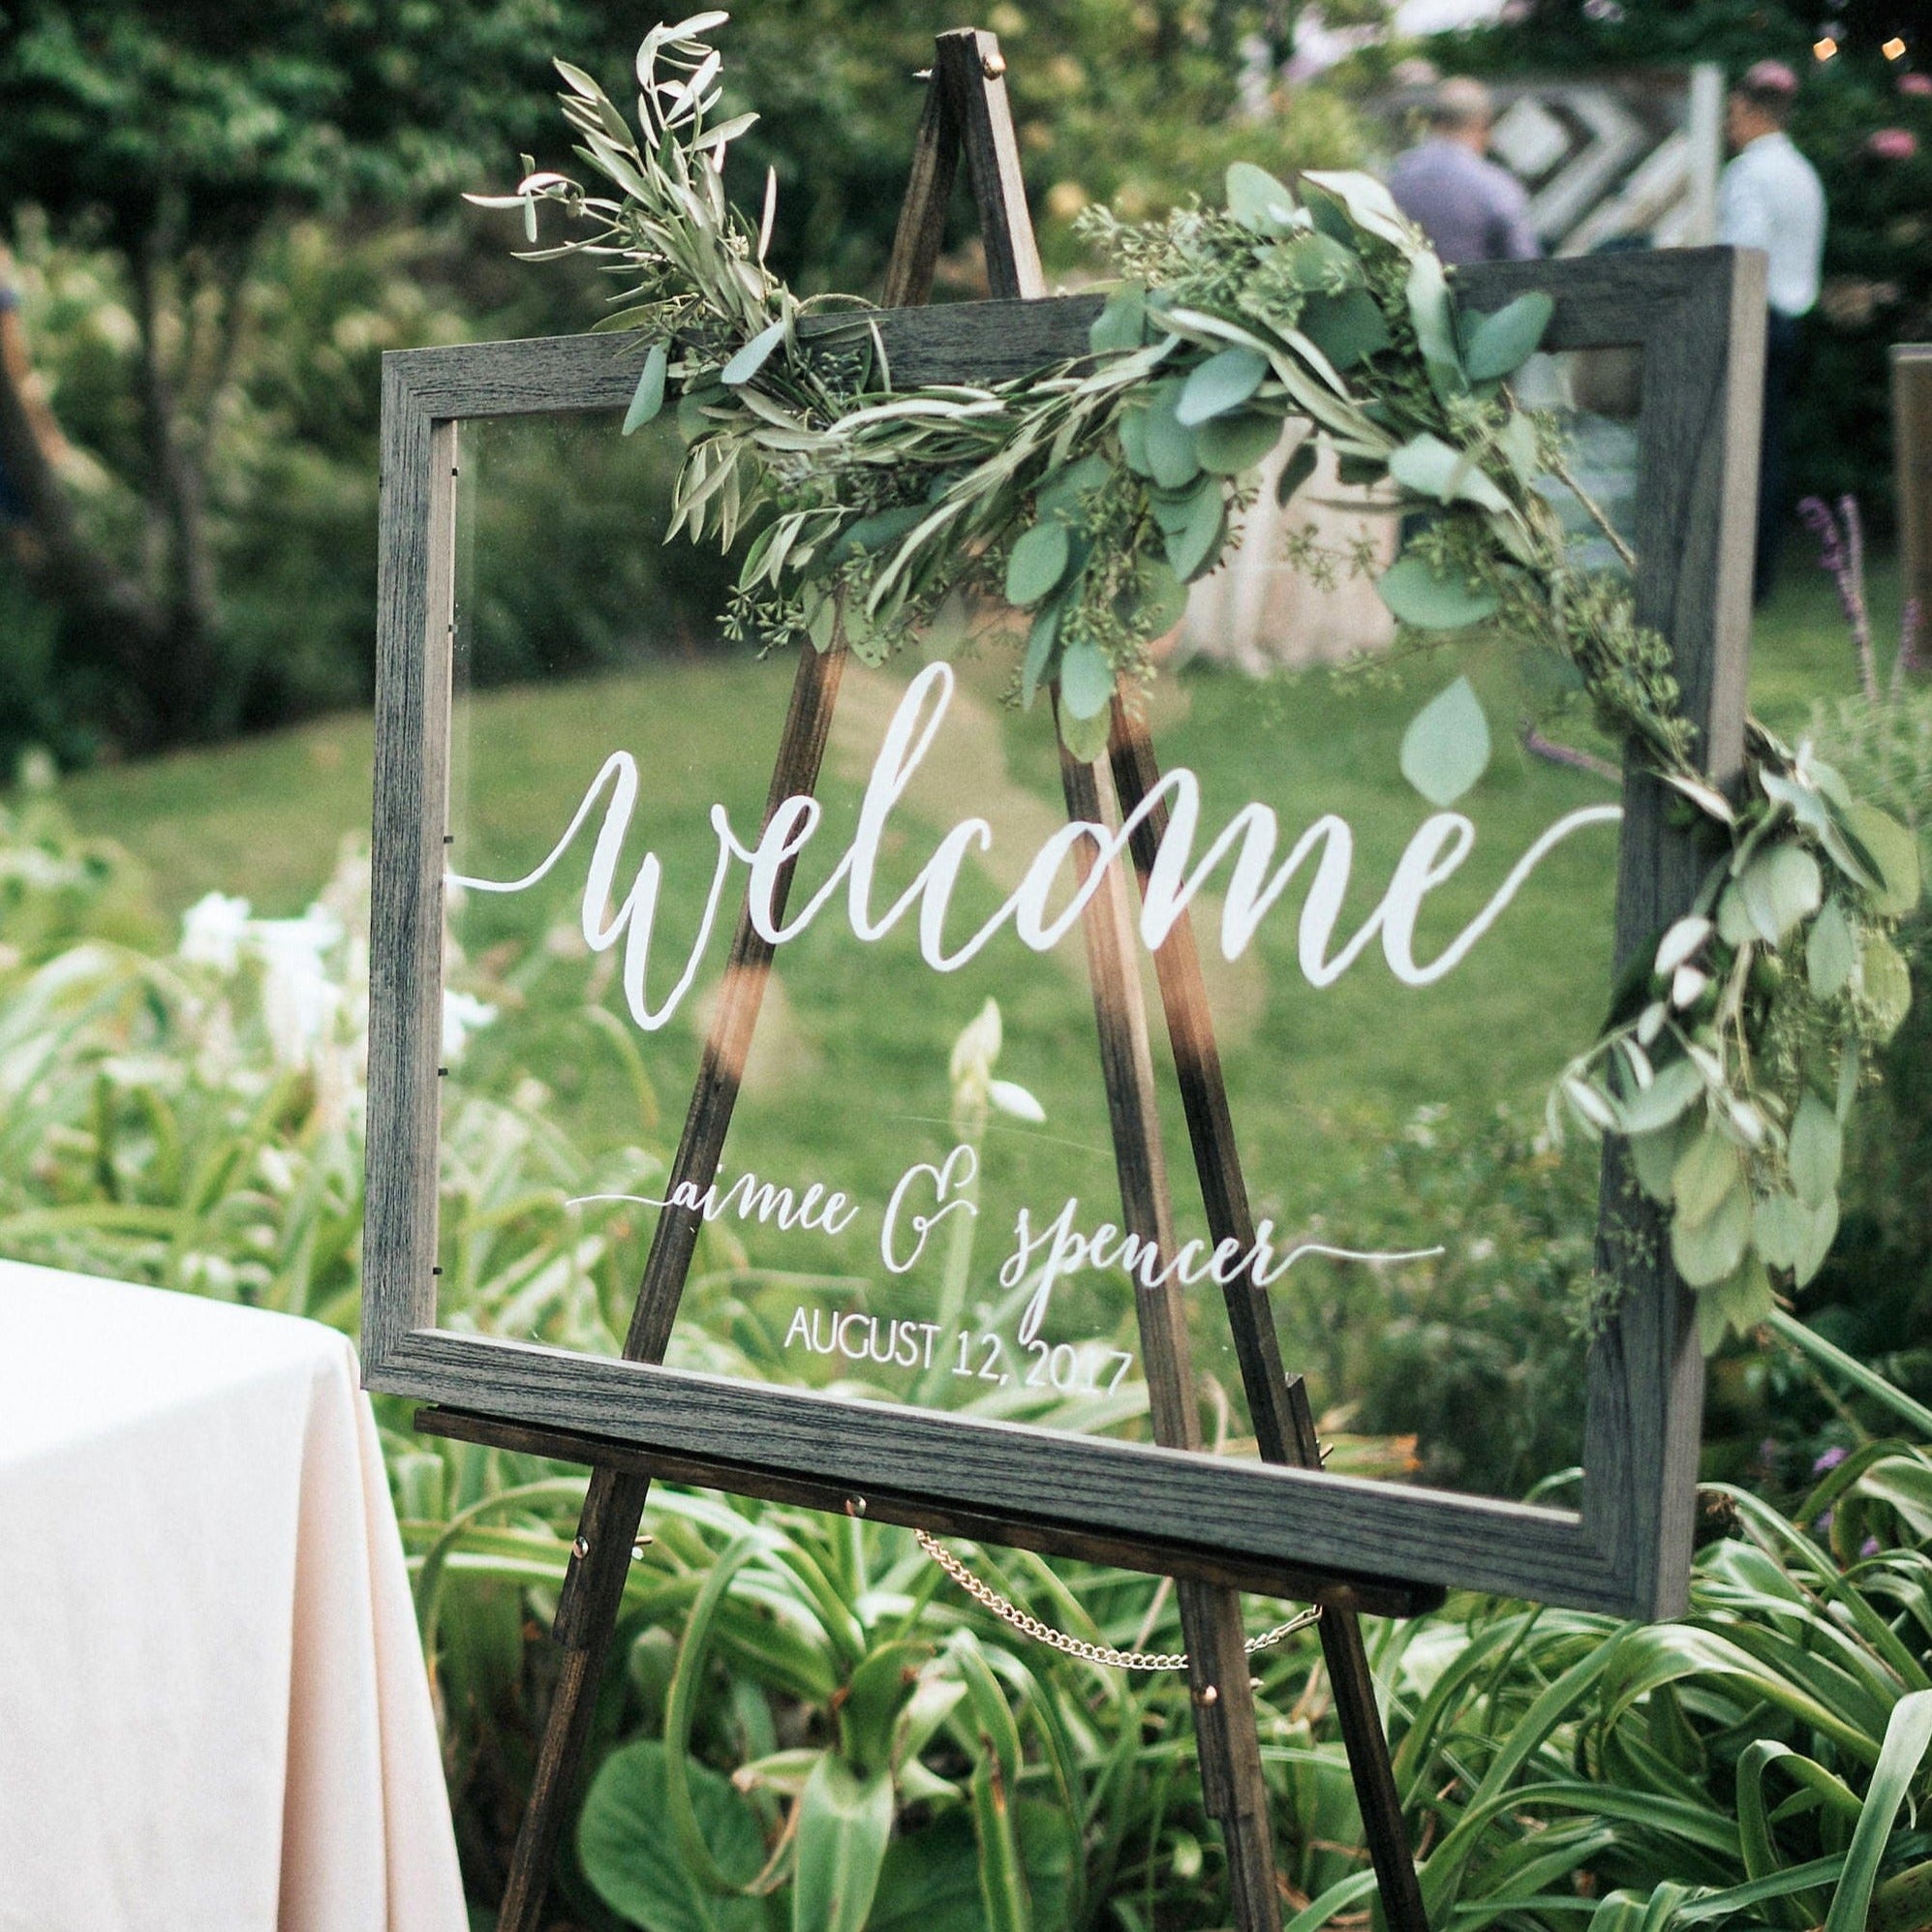
{"type": "Polygon", "coordinates": [[[526,873],[522,879],[471,879],[452,873],[450,883],[475,893],[529,891],[549,877],[551,869],[570,850],[583,823],[595,811],[605,788],[609,788],[611,798],[605,806],[603,825],[597,831],[597,844],[591,850],[589,871],[583,881],[583,941],[593,952],[605,952],[618,945],[618,941],[624,943],[624,1001],[638,1026],[645,1032],[655,1032],[678,1010],[680,1001],[697,978],[734,864],[748,869],[746,902],[752,925],[773,947],[796,939],[842,893],[846,922],[856,939],[883,939],[902,920],[916,916],[920,956],[925,964],[933,972],[958,972],[960,966],[976,958],[1007,925],[1034,952],[1047,952],[1059,945],[1072,931],[1088,900],[1099,889],[1105,869],[1121,858],[1140,823],[1165,806],[1169,813],[1167,829],[1161,835],[1140,906],[1140,939],[1150,952],[1161,947],[1169,931],[1173,931],[1175,922],[1188,910],[1209,875],[1233,854],[1233,867],[1221,898],[1219,939],[1225,958],[1238,958],[1246,951],[1275,900],[1289,889],[1294,875],[1312,864],[1314,877],[1308,881],[1308,891],[1302,898],[1298,929],[1298,962],[1308,983],[1316,987],[1333,985],[1362,956],[1370,941],[1379,937],[1381,956],[1397,980],[1405,985],[1430,985],[1453,972],[1468,956],[1476,941],[1495,923],[1503,908],[1522,889],[1522,883],[1555,846],[1586,825],[1613,825],[1623,815],[1619,806],[1584,806],[1557,819],[1517,860],[1476,918],[1434,960],[1418,962],[1414,941],[1422,902],[1435,887],[1461,869],[1476,844],[1476,827],[1461,811],[1435,811],[1416,827],[1414,837],[1395,864],[1395,873],[1381,902],[1362,922],[1360,929],[1335,949],[1335,923],[1341,918],[1349,875],[1354,866],[1354,833],[1349,821],[1333,811],[1323,813],[1296,838],[1287,858],[1277,866],[1275,852],[1281,844],[1279,819],[1267,806],[1248,804],[1235,813],[1196,862],[1194,842],[1202,815],[1200,781],[1186,767],[1177,767],[1126,813],[1119,829],[1074,819],[1055,831],[1034,854],[1020,885],[999,910],[978,931],[949,949],[947,918],[960,871],[972,854],[989,852],[993,846],[993,827],[985,819],[968,817],[954,825],[939,840],[931,858],[920,867],[912,885],[889,906],[875,908],[873,895],[879,850],[893,823],[893,813],[925,753],[931,750],[951,701],[951,665],[927,665],[906,686],[898,711],[893,715],[893,723],[879,744],[879,755],[866,782],[852,838],[825,883],[788,922],[781,920],[777,910],[781,883],[788,875],[792,862],[817,833],[825,815],[823,806],[815,798],[786,798],[771,813],[763,833],[752,846],[732,829],[723,806],[711,808],[711,829],[717,837],[711,889],[705,896],[703,916],[697,923],[697,935],[692,941],[684,970],[655,1007],[647,995],[647,976],[651,933],[657,923],[657,908],[665,883],[665,867],[655,852],[643,854],[632,875],[630,891],[616,904],[614,912],[609,910],[618,885],[624,840],[630,835],[632,815],[638,808],[638,761],[628,752],[612,752],[605,759],[603,769],[591,781],[564,835],[535,871],[526,873]],[[1076,883],[1068,900],[1059,910],[1053,910],[1061,873],[1068,860],[1074,860],[1080,848],[1088,844],[1094,848],[1094,864],[1076,883]]]}

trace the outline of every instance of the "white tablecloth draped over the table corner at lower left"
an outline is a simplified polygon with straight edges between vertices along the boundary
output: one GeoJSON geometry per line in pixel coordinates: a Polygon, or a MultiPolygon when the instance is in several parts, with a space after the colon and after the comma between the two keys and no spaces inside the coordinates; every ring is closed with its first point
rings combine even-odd
{"type": "Polygon", "coordinates": [[[350,1345],[0,1262],[0,1928],[464,1922],[350,1345]]]}

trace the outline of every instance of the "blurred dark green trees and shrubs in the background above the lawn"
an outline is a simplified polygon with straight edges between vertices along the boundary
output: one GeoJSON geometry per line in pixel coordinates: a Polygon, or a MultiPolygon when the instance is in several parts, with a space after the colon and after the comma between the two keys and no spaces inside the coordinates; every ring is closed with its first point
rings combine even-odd
{"type": "MultiPolygon", "coordinates": [[[[999,0],[981,25],[1010,54],[1059,278],[1088,272],[1070,224],[1090,201],[1140,216],[1217,191],[1235,156],[1283,172],[1364,158],[1358,102],[1403,60],[1795,60],[1795,131],[1832,197],[1795,483],[1857,491],[1884,531],[1884,350],[1932,327],[1932,95],[1878,52],[1888,4],[1835,8],[1830,62],[1810,54],[1812,0],[1515,0],[1501,25],[1435,41],[1395,33],[1391,0],[999,0]],[[1304,29],[1360,23],[1352,56],[1294,77],[1304,29]],[[1882,129],[1917,151],[1878,158],[1882,129]]],[[[773,253],[802,290],[877,288],[914,73],[954,14],[875,0],[854,31],[850,0],[757,0],[728,29],[726,112],[763,116],[732,151],[732,189],[752,199],[777,170],[773,253]]],[[[500,189],[522,153],[568,160],[549,58],[616,85],[643,15],[605,0],[10,0],[0,21],[0,242],[68,444],[60,541],[0,539],[0,773],[29,744],[81,765],[359,703],[381,354],[595,321],[593,280],[512,261],[514,218],[460,197],[500,189]]],[[[954,220],[943,298],[981,286],[964,197],[954,220]]],[[[0,448],[6,421],[0,408],[0,448]]],[[[709,593],[692,585],[694,624],[709,593]]],[[[639,649],[589,616],[580,668],[639,649]]]]}

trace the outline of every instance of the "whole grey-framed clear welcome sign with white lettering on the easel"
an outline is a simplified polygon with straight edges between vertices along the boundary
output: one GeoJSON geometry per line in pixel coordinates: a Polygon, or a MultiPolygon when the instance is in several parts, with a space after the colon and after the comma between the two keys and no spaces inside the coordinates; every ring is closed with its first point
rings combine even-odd
{"type": "MultiPolygon", "coordinates": [[[[1553,348],[1642,352],[1640,616],[1721,775],[1729,257],[1468,294],[1532,276],[1553,348]]],[[[983,375],[1051,359],[1055,328],[1078,354],[1092,313],[883,321],[895,367],[983,375]]],[[[1051,696],[1009,688],[1005,609],[949,607],[887,663],[759,659],[703,622],[684,553],[636,562],[676,448],[616,439],[634,369],[609,338],[412,352],[388,384],[373,1385],[1150,1567],[1675,1607],[1683,1291],[1615,1161],[1600,1235],[1594,1171],[1542,1121],[1694,877],[1611,748],[1524,748],[1538,694],[1478,645],[1167,663],[1109,757],[1063,767],[1051,696]],[[570,502],[605,520],[607,605],[529,537],[570,502]],[[589,624],[645,649],[566,684],[589,624]],[[483,688],[504,665],[541,705],[483,688]],[[491,1009],[464,1051],[526,1070],[529,1115],[589,1150],[562,1208],[582,1279],[475,1298],[473,1231],[437,1206],[439,1161],[475,1157],[440,1146],[444,991],[491,1009]],[[1173,1148],[1122,1151],[1124,1092],[1173,1148]],[[1242,1296],[1312,1378],[1325,1468],[1258,1459],[1242,1296]],[[1188,1447],[1155,1445],[1163,1399],[1188,1447]]]]}

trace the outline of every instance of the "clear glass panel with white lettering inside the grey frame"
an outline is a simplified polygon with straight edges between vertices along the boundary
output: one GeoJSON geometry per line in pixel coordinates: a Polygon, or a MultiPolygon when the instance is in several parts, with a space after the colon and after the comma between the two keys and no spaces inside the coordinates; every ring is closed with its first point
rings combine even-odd
{"type": "MultiPolygon", "coordinates": [[[[462,431],[450,866],[529,883],[450,896],[442,1320],[574,1349],[618,1347],[668,1198],[796,668],[721,638],[728,564],[663,547],[678,454],[605,417],[462,431]]],[[[1604,1010],[1615,786],[1524,746],[1534,692],[1493,641],[1325,663],[1345,620],[1378,641],[1362,583],[1262,583],[1229,649],[1215,599],[1279,572],[1279,535],[1198,593],[1150,724],[1196,802],[1163,850],[1283,1354],[1331,1468],[1520,1495],[1580,1453],[1594,1157],[1544,1144],[1542,1099],[1604,1010]],[[1482,732],[1453,798],[1405,779],[1405,736],[1482,732]]],[[[1012,628],[954,611],[844,668],[668,1360],[1148,1439],[1059,757],[1045,705],[1009,701],[1012,628]]],[[[1410,763],[1441,790],[1445,757],[1410,763]]],[[[1204,1439],[1252,1455],[1130,906],[1204,1439]]]]}

